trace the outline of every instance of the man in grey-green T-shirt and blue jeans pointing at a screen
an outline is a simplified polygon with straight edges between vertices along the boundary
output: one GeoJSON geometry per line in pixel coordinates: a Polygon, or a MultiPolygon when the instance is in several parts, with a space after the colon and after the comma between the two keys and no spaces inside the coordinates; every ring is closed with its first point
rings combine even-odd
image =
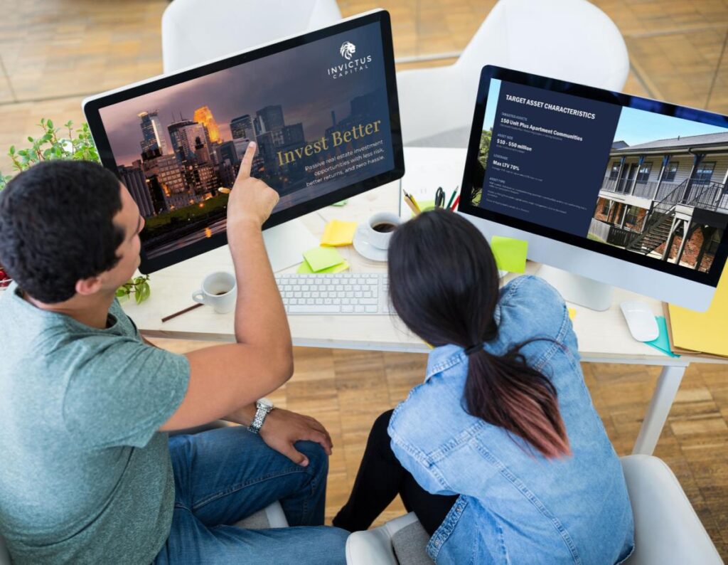
{"type": "MultiPolygon", "coordinates": [[[[0,193],[0,533],[17,564],[343,563],[323,524],[331,437],[256,400],[293,373],[261,225],[278,195],[245,153],[228,203],[237,343],[147,343],[114,292],[144,220],[99,165],[50,161],[0,193]],[[247,427],[264,418],[259,435],[247,427]],[[245,424],[167,434],[216,418],[245,424]],[[280,500],[289,529],[232,524],[280,500]]],[[[199,273],[196,273],[199,275],[199,273]]]]}

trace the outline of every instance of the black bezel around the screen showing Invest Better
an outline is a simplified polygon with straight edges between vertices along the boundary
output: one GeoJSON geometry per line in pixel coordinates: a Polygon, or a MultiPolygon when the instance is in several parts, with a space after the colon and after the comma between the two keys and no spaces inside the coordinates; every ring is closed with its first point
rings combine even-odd
{"type": "MultiPolygon", "coordinates": [[[[325,195],[313,198],[312,200],[298,203],[294,206],[290,206],[288,209],[276,212],[266,220],[263,225],[263,229],[266,230],[269,227],[280,225],[284,222],[288,222],[290,219],[304,216],[305,214],[321,209],[324,206],[329,206],[341,200],[352,198],[362,192],[366,192],[367,190],[371,190],[383,184],[388,184],[389,182],[402,178],[405,172],[405,164],[402,146],[402,130],[400,126],[400,112],[397,100],[397,79],[395,76],[394,47],[392,45],[392,25],[389,12],[383,9],[377,9],[363,15],[350,17],[345,20],[341,20],[341,22],[333,24],[332,26],[308,31],[305,34],[285,38],[260,47],[253,47],[251,50],[238,52],[235,55],[230,55],[229,57],[202,63],[199,66],[183,69],[174,74],[152,77],[151,79],[135,83],[134,85],[121,87],[107,93],[101,93],[91,98],[87,98],[84,100],[82,107],[91,130],[94,143],[98,149],[101,164],[113,172],[117,178],[119,177],[118,166],[116,165],[116,160],[111,152],[111,144],[108,141],[106,128],[104,127],[100,117],[100,110],[106,106],[118,104],[119,102],[129,100],[130,98],[149,94],[155,90],[178,85],[182,82],[203,77],[207,74],[239,66],[250,61],[255,61],[256,59],[274,55],[278,52],[300,47],[301,45],[310,42],[325,39],[328,36],[341,34],[353,28],[368,26],[372,23],[379,23],[379,32],[381,34],[382,52],[384,57],[384,80],[385,87],[387,88],[387,98],[389,101],[389,128],[392,137],[392,152],[395,163],[394,168],[384,173],[372,176],[369,179],[349,184],[347,187],[343,187],[339,190],[329,192],[325,195]]],[[[139,265],[139,270],[144,274],[153,273],[156,270],[160,270],[226,245],[226,243],[227,232],[224,231],[222,233],[212,235],[210,238],[205,238],[202,241],[190,243],[182,249],[175,249],[159,257],[150,258],[146,256],[142,242],[141,264],[139,265]]]]}

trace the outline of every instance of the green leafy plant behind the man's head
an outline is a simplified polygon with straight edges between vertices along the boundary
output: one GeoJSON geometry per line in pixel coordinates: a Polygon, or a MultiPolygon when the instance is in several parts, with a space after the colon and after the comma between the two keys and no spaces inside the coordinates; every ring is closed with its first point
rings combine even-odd
{"type": "MultiPolygon", "coordinates": [[[[15,145],[10,146],[7,155],[10,157],[12,168],[15,171],[25,171],[35,163],[52,159],[76,159],[100,163],[98,151],[87,123],[83,123],[81,128],[74,130],[74,122],[69,121],[63,124],[63,129],[61,129],[56,128],[52,120],[42,118],[39,127],[42,130],[41,136],[36,138],[28,136],[28,143],[31,144],[31,147],[16,149],[15,145]]],[[[0,190],[4,189],[10,179],[12,176],[4,175],[0,171],[0,190]]],[[[0,263],[0,289],[8,287],[10,282],[9,276],[0,263]]],[[[120,298],[129,298],[134,295],[137,303],[149,298],[149,294],[149,276],[130,278],[116,291],[116,296],[120,298]]]]}

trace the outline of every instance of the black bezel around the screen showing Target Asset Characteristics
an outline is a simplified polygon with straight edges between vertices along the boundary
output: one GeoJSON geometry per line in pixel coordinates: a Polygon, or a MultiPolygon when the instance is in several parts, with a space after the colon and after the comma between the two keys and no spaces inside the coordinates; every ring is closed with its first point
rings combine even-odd
{"type": "MultiPolygon", "coordinates": [[[[657,270],[689,281],[695,281],[700,284],[707,284],[710,287],[717,287],[721,273],[723,272],[725,263],[728,259],[728,229],[724,231],[723,238],[719,243],[715,258],[711,265],[711,269],[707,272],[692,270],[687,267],[681,267],[670,262],[665,262],[653,257],[645,257],[644,255],[629,252],[626,249],[620,249],[607,243],[599,243],[592,241],[586,237],[579,237],[571,233],[555,230],[551,227],[534,224],[523,219],[514,218],[501,214],[499,212],[482,209],[472,205],[472,194],[477,188],[475,187],[475,160],[477,159],[478,150],[480,148],[480,133],[483,129],[483,121],[486,114],[486,102],[488,100],[488,90],[490,88],[491,79],[505,80],[507,82],[515,82],[519,85],[543,88],[555,92],[568,93],[573,96],[581,96],[590,98],[591,100],[606,102],[609,104],[617,104],[627,106],[634,109],[655,112],[659,110],[660,114],[680,117],[686,120],[703,122],[711,125],[717,125],[728,129],[728,117],[722,114],[715,114],[705,110],[690,108],[687,106],[678,106],[669,104],[668,102],[657,101],[652,98],[642,98],[640,96],[632,96],[624,93],[617,93],[611,90],[579,85],[575,82],[542,77],[537,74],[530,74],[512,69],[504,69],[502,67],[486,65],[480,72],[480,83],[478,85],[478,96],[475,101],[475,112],[473,114],[472,126],[470,130],[470,139],[467,147],[467,157],[465,160],[464,174],[461,184],[461,198],[458,203],[458,211],[462,214],[470,214],[471,216],[495,222],[496,224],[513,227],[526,233],[532,233],[544,238],[555,239],[563,243],[568,243],[575,247],[585,249],[590,252],[605,254],[615,259],[624,260],[626,262],[657,270]]],[[[606,155],[604,160],[604,170],[609,164],[610,157],[606,155]]],[[[596,209],[596,201],[594,203],[596,209]]]]}

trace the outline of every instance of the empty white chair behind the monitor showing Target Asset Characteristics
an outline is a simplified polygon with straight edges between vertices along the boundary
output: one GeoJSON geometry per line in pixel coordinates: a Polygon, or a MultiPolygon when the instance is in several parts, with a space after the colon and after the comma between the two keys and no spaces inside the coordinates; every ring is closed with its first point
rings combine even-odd
{"type": "Polygon", "coordinates": [[[484,65],[620,90],[630,68],[614,22],[586,0],[500,0],[450,66],[397,73],[405,145],[467,147],[484,65]]]}

